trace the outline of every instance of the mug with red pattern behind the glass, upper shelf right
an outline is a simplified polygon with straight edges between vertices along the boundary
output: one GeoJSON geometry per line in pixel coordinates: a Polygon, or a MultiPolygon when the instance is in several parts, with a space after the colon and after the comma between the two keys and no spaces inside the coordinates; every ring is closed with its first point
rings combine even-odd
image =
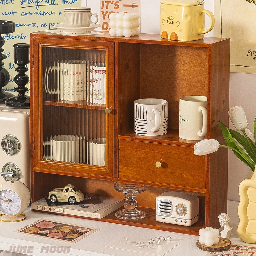
{"type": "Polygon", "coordinates": [[[90,73],[90,102],[106,104],[106,63],[91,64],[90,73]]]}

